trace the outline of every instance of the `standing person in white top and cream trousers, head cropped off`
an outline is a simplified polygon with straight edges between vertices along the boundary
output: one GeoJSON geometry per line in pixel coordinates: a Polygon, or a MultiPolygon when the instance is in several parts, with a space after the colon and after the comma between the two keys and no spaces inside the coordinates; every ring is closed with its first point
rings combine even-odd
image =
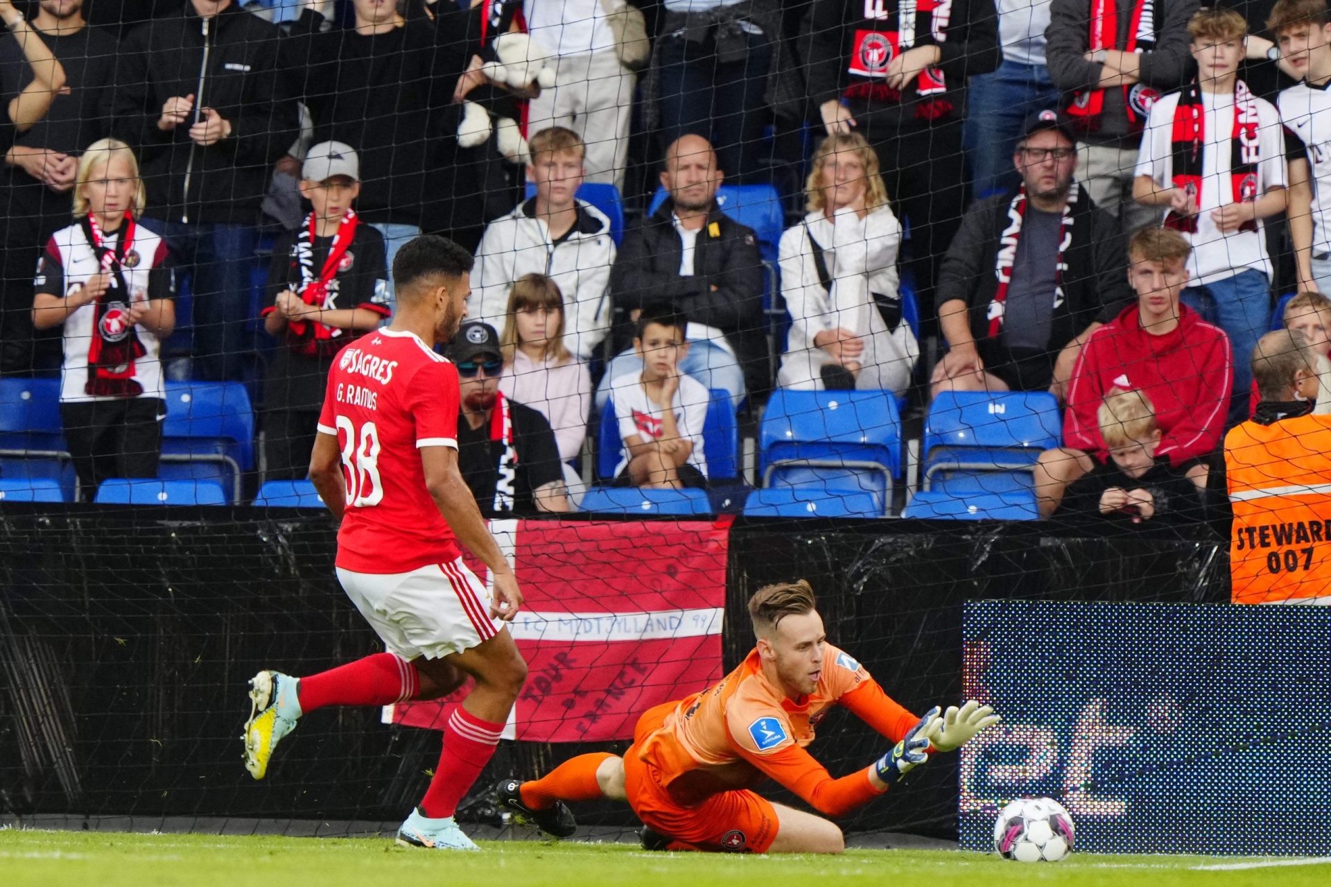
{"type": "Polygon", "coordinates": [[[527,33],[555,56],[555,85],[531,100],[527,125],[578,133],[587,181],[623,190],[635,77],[619,61],[603,0],[524,0],[523,13],[527,33]]]}

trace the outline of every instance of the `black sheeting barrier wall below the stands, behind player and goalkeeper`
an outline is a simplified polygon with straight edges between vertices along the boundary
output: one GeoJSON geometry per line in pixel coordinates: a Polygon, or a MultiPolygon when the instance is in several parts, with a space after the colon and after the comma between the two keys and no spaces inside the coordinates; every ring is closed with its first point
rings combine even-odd
{"type": "MultiPolygon", "coordinates": [[[[377,709],[311,714],[262,783],[241,764],[254,671],[301,674],[377,649],[333,577],[334,545],[318,511],[5,505],[0,811],[405,815],[439,738],[385,726],[377,709]]],[[[819,591],[829,638],[916,711],[960,699],[966,599],[1229,599],[1225,550],[1211,541],[1059,538],[1036,525],[740,521],[729,543],[727,667],[752,643],[747,597],[799,577],[819,591]]],[[[840,775],[884,746],[833,714],[813,751],[840,775]]],[[[519,743],[478,786],[538,775],[583,750],[519,743]]],[[[588,814],[584,822],[632,823],[610,806],[588,814]]],[[[845,824],[953,836],[954,818],[948,755],[845,824]]]]}

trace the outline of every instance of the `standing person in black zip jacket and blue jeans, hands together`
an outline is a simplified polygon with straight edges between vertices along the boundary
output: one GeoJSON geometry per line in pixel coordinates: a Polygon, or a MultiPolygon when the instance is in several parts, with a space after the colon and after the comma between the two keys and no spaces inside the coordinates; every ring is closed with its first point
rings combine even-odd
{"type": "Polygon", "coordinates": [[[142,154],[145,225],[193,269],[193,376],[238,378],[254,350],[260,204],[295,139],[295,105],[278,93],[276,25],[236,0],[182,7],[122,44],[113,131],[142,154]]]}

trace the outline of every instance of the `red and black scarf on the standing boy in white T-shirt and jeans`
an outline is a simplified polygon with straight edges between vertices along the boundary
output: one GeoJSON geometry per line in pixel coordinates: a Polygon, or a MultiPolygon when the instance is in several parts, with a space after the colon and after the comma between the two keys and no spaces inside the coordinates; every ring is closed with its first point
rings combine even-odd
{"type": "MultiPolygon", "coordinates": [[[[1230,194],[1233,202],[1256,200],[1256,168],[1262,161],[1262,140],[1258,136],[1256,97],[1242,80],[1234,81],[1234,128],[1230,131],[1230,194]]],[[[1170,173],[1174,188],[1193,194],[1202,205],[1202,152],[1206,150],[1206,109],[1202,91],[1194,80],[1179,93],[1174,109],[1174,131],[1170,150],[1170,173]]],[[[1187,234],[1197,233],[1197,214],[1179,216],[1170,212],[1165,226],[1187,234]]],[[[1256,230],[1256,221],[1247,221],[1239,230],[1256,230]]]]}

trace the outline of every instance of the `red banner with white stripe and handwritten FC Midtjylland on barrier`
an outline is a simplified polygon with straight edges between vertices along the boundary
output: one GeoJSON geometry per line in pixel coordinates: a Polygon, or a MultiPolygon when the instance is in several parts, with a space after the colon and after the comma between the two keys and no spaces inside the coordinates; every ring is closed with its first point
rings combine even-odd
{"type": "MultiPolygon", "coordinates": [[[[526,597],[510,630],[527,683],[504,738],[632,739],[647,709],[719,681],[729,523],[494,521],[526,597]]],[[[463,695],[385,721],[442,730],[463,695]]]]}

